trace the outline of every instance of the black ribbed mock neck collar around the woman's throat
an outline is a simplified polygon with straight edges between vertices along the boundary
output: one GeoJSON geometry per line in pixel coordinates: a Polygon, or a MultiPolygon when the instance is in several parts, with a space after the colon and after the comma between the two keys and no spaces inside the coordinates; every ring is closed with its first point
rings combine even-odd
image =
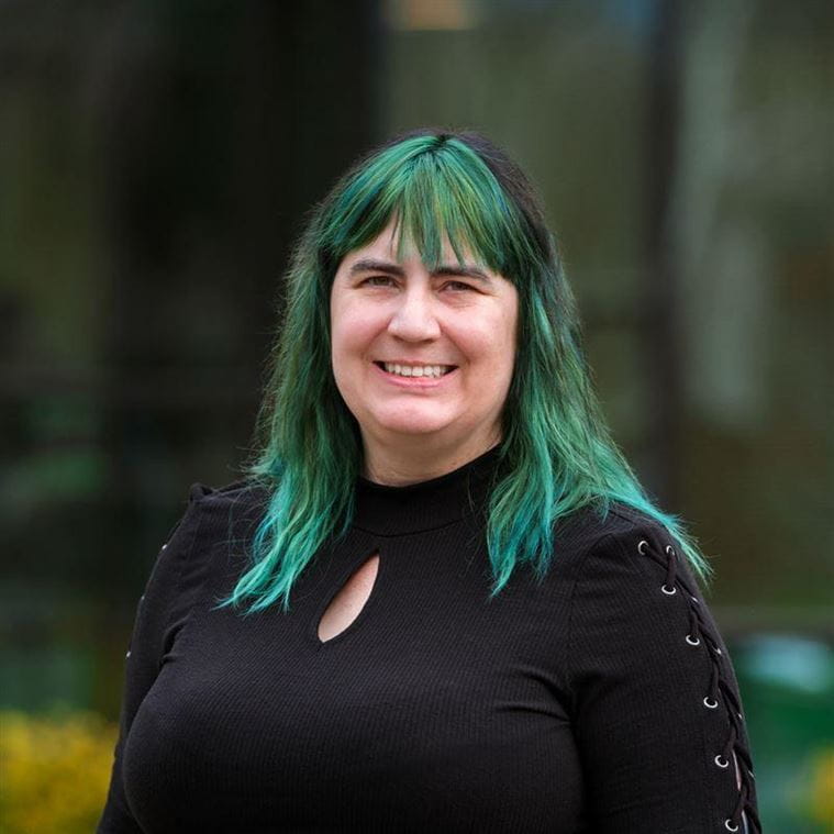
{"type": "Polygon", "coordinates": [[[379,535],[442,527],[486,509],[501,446],[437,478],[390,487],[359,477],[354,526],[379,535]]]}

